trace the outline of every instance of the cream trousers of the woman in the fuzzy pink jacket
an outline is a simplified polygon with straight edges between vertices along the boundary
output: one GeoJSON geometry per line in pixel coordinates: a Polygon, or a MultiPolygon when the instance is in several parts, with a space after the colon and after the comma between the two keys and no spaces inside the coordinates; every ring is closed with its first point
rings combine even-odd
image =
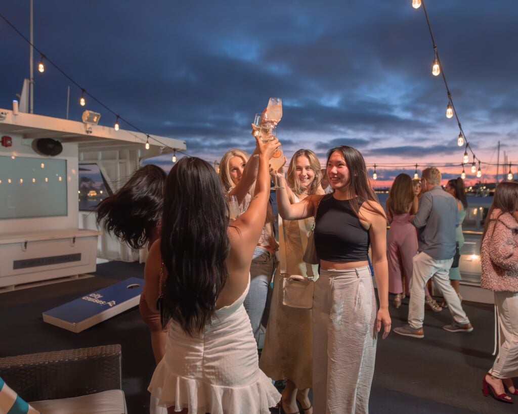
{"type": "Polygon", "coordinates": [[[500,328],[500,350],[490,374],[496,378],[518,377],[518,293],[495,292],[500,328]]]}

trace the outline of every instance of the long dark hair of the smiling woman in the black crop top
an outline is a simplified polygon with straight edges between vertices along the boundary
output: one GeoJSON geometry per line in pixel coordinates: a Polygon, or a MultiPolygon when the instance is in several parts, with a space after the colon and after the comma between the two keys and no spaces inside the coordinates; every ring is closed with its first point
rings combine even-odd
{"type": "Polygon", "coordinates": [[[363,155],[352,146],[336,146],[327,152],[326,168],[329,164],[329,158],[331,158],[335,152],[339,152],[343,155],[343,158],[346,160],[347,168],[349,168],[349,190],[353,196],[356,196],[351,199],[351,207],[356,216],[359,214],[360,206],[358,199],[366,201],[369,210],[372,212],[383,214],[369,203],[369,201],[376,203],[379,203],[379,201],[376,193],[370,186],[369,174],[363,155]]]}

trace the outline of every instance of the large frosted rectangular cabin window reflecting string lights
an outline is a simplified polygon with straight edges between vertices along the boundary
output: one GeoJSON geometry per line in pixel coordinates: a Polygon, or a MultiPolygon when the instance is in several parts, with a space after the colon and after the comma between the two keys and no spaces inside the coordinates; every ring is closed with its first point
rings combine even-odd
{"type": "Polygon", "coordinates": [[[0,156],[0,219],[66,215],[65,159],[0,156]]]}

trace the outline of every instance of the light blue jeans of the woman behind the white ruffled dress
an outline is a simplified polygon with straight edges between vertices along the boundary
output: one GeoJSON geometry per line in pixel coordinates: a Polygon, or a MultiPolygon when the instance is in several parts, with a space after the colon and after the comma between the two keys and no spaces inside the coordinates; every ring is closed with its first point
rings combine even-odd
{"type": "Polygon", "coordinates": [[[243,306],[247,311],[255,342],[259,343],[261,319],[266,307],[268,285],[275,269],[275,254],[262,246],[256,246],[250,266],[250,289],[243,306]]]}

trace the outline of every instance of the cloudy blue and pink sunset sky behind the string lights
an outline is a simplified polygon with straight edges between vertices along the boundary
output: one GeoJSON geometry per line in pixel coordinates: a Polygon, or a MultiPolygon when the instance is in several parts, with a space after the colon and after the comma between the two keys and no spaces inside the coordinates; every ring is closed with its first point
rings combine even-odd
{"type": "MultiPolygon", "coordinates": [[[[3,14],[28,37],[28,0],[3,14]]],[[[512,0],[426,2],[442,69],[466,137],[482,162],[505,152],[518,176],[518,7],[512,0]]],[[[410,0],[141,2],[38,0],[35,45],[71,78],[150,135],[186,141],[187,153],[219,160],[251,151],[250,123],[270,96],[283,99],[278,137],[287,156],[357,147],[378,167],[377,186],[399,172],[462,162],[455,118],[423,8],[410,0]],[[406,167],[403,167],[406,166],[406,167]]],[[[0,107],[28,77],[28,46],[0,20],[0,107]]],[[[35,64],[39,54],[35,54],[35,64]]],[[[71,83],[47,65],[35,72],[35,112],[64,117],[71,83]]],[[[80,90],[71,85],[70,119],[80,90]]],[[[100,124],[114,116],[93,100],[100,124]]],[[[121,124],[121,128],[131,129],[121,124]]],[[[477,181],[466,166],[467,183],[477,181]]],[[[170,157],[155,162],[170,167],[170,157]]],[[[441,167],[444,178],[462,167],[441,167]]],[[[509,166],[506,167],[506,174],[509,166]]],[[[495,167],[482,165],[483,179],[495,167]]],[[[500,171],[501,174],[501,171],[500,171]]]]}

